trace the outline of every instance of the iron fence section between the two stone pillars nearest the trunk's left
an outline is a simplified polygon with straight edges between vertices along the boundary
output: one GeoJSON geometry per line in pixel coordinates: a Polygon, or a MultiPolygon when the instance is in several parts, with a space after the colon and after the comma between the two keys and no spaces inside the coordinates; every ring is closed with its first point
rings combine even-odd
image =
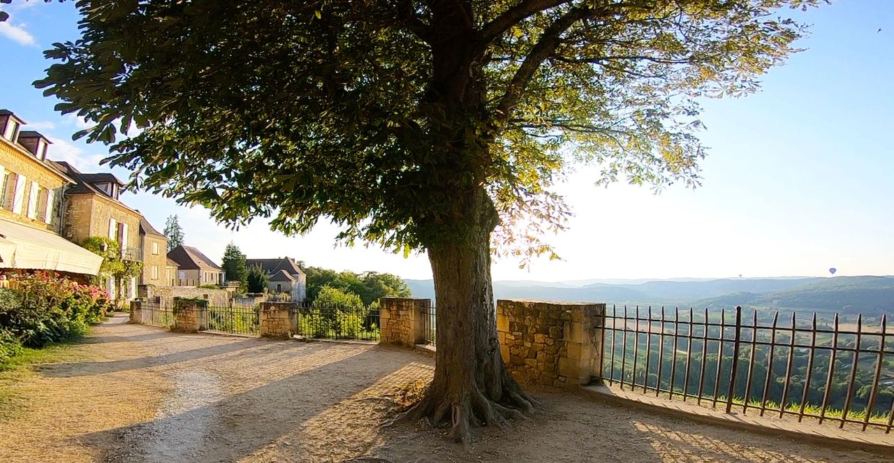
{"type": "Polygon", "coordinates": [[[305,338],[378,341],[379,309],[299,303],[298,335],[305,338]]]}

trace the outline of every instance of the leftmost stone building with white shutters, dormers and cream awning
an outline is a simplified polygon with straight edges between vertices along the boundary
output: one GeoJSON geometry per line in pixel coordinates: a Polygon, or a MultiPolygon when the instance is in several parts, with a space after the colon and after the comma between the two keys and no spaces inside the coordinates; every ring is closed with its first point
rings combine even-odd
{"type": "Polygon", "coordinates": [[[53,270],[86,281],[102,257],[59,236],[63,190],[76,181],[46,159],[50,141],[22,125],[0,109],[0,272],[53,270]]]}

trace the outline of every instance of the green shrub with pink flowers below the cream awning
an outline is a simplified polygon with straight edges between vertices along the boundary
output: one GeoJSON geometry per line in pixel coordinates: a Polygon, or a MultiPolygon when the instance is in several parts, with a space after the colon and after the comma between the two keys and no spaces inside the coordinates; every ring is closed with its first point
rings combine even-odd
{"type": "Polygon", "coordinates": [[[16,280],[16,289],[0,290],[0,331],[28,347],[80,337],[109,307],[101,288],[55,273],[37,272],[16,280]]]}

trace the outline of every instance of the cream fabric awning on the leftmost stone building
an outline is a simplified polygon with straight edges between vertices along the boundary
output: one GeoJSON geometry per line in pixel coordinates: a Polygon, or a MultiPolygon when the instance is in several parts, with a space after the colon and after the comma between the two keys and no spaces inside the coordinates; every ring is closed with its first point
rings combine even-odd
{"type": "Polygon", "coordinates": [[[0,219],[0,268],[99,273],[103,258],[46,230],[0,219]]]}

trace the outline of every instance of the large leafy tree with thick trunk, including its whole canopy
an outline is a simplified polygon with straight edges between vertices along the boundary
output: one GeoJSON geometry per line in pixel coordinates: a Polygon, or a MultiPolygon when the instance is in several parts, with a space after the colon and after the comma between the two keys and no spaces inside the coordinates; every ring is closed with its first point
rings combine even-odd
{"type": "Polygon", "coordinates": [[[803,32],[780,8],[819,1],[80,0],[37,85],[139,185],[222,223],[424,250],[438,349],[408,417],[468,441],[532,408],[497,344],[493,245],[551,255],[574,162],[696,184],[698,98],[754,91],[803,32]]]}

